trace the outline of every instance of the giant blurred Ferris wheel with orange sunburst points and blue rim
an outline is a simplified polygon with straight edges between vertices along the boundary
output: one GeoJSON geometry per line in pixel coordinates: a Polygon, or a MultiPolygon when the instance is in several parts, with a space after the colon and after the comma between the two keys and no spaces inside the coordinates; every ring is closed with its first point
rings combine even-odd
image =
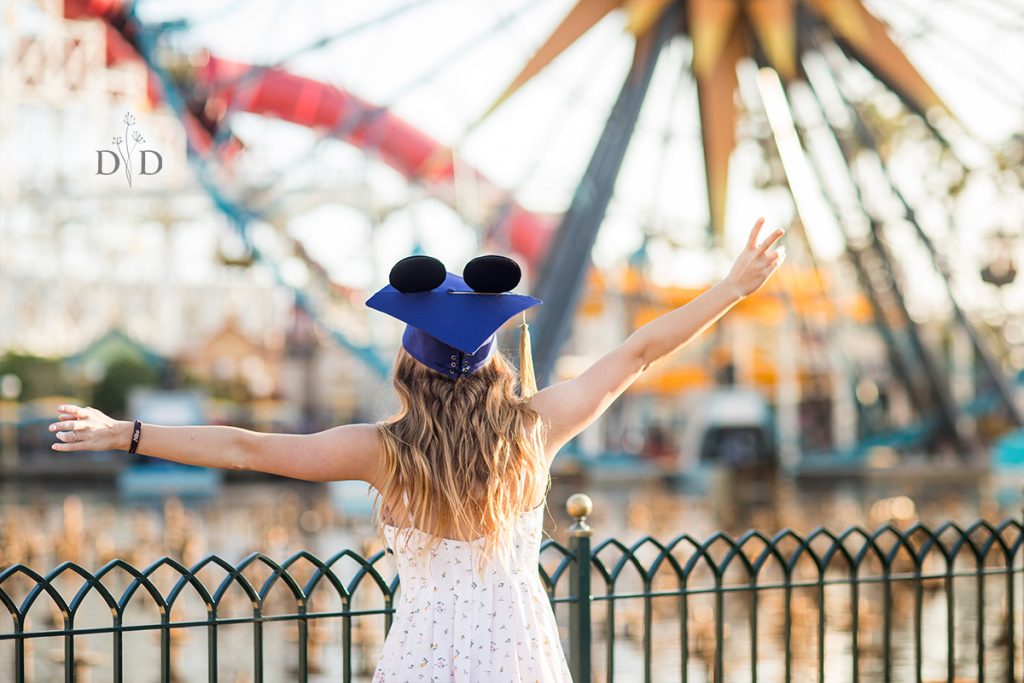
{"type": "Polygon", "coordinates": [[[758,201],[794,228],[793,273],[768,296],[812,352],[869,374],[852,347],[870,337],[926,442],[971,450],[964,418],[979,413],[1024,426],[1010,380],[1024,358],[1000,332],[1024,325],[1006,313],[1021,296],[1022,226],[997,211],[988,224],[963,218],[979,195],[1020,205],[1021,122],[984,139],[940,94],[955,92],[940,87],[948,74],[964,97],[1019,117],[1024,79],[1000,50],[1024,28],[1024,4],[414,0],[338,15],[282,2],[252,18],[253,4],[175,16],[159,3],[68,0],[66,14],[106,23],[109,60],[147,66],[153,99],[180,118],[201,183],[238,228],[239,262],[270,267],[377,372],[387,364],[353,303],[391,252],[518,254],[545,300],[543,380],[588,291],[669,305],[672,288],[647,275],[672,281],[679,263],[713,275],[741,202],[758,201]],[[210,44],[236,26],[258,59],[210,44]],[[920,46],[935,55],[927,78],[909,56],[920,46]],[[287,153],[272,148],[280,139],[287,153]],[[332,217],[337,241],[356,244],[324,253],[297,215],[332,217]],[[967,243],[982,248],[959,258],[967,243]],[[986,254],[992,244],[1006,248],[986,254]],[[358,276],[339,270],[339,254],[365,261],[358,276]],[[594,260],[632,281],[588,280],[594,260]],[[955,364],[935,321],[968,349],[967,392],[943,379],[955,364]]]}

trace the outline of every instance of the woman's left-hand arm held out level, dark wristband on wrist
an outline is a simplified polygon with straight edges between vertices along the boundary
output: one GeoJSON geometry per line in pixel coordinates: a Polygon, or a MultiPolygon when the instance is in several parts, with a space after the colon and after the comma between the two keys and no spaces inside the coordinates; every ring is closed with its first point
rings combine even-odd
{"type": "MultiPolygon", "coordinates": [[[[132,423],[94,408],[67,403],[50,425],[54,451],[127,451],[132,423]]],[[[145,423],[136,453],[184,465],[266,472],[307,481],[374,482],[380,444],[373,425],[334,427],[315,434],[270,434],[240,427],[166,427],[145,423]]]]}

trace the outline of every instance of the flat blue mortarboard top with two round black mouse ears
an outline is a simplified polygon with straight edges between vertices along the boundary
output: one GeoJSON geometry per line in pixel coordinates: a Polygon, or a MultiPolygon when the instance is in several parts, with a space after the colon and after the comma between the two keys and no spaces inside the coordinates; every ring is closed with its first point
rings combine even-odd
{"type": "Polygon", "coordinates": [[[478,256],[462,278],[433,257],[409,256],[395,263],[390,284],[367,305],[473,355],[509,318],[542,303],[510,293],[521,276],[518,264],[505,256],[478,256]]]}

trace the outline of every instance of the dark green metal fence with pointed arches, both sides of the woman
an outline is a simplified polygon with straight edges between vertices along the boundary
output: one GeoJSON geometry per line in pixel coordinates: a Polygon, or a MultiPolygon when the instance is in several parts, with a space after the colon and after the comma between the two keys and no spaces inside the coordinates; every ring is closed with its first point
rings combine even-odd
{"type": "MultiPolygon", "coordinates": [[[[573,496],[567,509],[567,545],[544,543],[540,573],[567,621],[578,682],[952,683],[1024,672],[1018,520],[592,545],[590,500],[573,496]]],[[[11,565],[0,571],[11,617],[0,625],[0,680],[236,681],[225,670],[240,661],[257,682],[365,679],[399,589],[379,570],[384,558],[256,553],[185,567],[165,557],[46,574],[11,565]]]]}

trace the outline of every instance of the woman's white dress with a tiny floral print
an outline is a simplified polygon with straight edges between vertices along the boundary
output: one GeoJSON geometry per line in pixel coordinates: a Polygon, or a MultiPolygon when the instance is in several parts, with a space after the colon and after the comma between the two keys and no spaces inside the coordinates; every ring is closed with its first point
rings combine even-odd
{"type": "MultiPolygon", "coordinates": [[[[374,683],[571,683],[538,571],[543,520],[543,504],[522,513],[510,567],[492,562],[482,581],[473,570],[482,539],[444,539],[417,563],[385,524],[401,590],[374,683]]],[[[412,533],[410,551],[431,540],[419,529],[412,533]]]]}

